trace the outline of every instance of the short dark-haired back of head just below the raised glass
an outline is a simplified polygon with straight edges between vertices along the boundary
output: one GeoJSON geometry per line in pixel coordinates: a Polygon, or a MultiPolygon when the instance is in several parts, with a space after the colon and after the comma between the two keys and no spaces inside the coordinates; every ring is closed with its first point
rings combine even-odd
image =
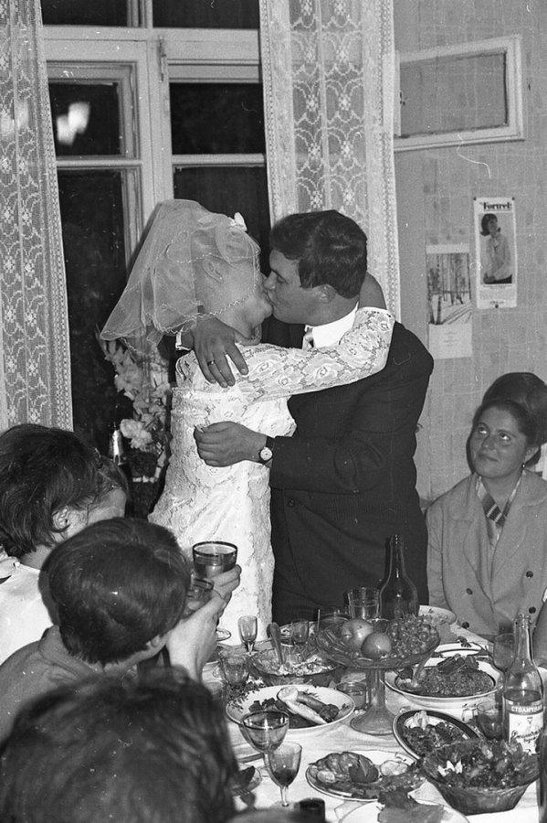
{"type": "Polygon", "coordinates": [[[144,651],[181,619],[189,581],[174,535],[146,520],[101,520],[65,540],[44,565],[63,643],[89,663],[144,651]]]}

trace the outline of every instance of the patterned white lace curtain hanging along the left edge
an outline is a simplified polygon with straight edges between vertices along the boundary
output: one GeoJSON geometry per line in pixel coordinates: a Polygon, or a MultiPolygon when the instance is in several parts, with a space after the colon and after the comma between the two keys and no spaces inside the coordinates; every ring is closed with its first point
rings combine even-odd
{"type": "Polygon", "coordinates": [[[72,427],[68,309],[39,0],[0,0],[0,430],[72,427]]]}

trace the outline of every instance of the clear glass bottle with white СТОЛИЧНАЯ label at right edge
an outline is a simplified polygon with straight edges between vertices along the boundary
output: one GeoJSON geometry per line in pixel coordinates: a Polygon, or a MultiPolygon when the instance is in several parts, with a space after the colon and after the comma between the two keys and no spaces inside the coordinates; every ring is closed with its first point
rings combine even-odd
{"type": "Polygon", "coordinates": [[[515,620],[515,657],[503,683],[503,736],[535,754],[543,728],[543,684],[531,656],[530,617],[515,620]]]}

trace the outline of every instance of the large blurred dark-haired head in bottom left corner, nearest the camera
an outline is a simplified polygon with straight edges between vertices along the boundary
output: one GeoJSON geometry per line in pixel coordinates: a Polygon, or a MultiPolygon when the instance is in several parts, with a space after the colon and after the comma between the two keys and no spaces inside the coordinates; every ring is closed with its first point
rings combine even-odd
{"type": "Polygon", "coordinates": [[[49,692],[17,718],[0,769],[3,823],[221,823],[234,814],[224,712],[176,669],[49,692]]]}

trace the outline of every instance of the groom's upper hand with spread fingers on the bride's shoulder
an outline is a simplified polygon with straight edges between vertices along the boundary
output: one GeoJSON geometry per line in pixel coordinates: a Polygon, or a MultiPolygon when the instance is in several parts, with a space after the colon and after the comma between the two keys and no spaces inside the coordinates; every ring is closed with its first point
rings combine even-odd
{"type": "Polygon", "coordinates": [[[211,315],[205,315],[197,321],[193,336],[195,357],[205,379],[210,383],[216,381],[223,389],[235,384],[227,358],[233,361],[241,374],[247,374],[247,363],[236,343],[250,344],[258,342],[257,340],[243,337],[237,329],[226,326],[226,323],[211,315]]]}

